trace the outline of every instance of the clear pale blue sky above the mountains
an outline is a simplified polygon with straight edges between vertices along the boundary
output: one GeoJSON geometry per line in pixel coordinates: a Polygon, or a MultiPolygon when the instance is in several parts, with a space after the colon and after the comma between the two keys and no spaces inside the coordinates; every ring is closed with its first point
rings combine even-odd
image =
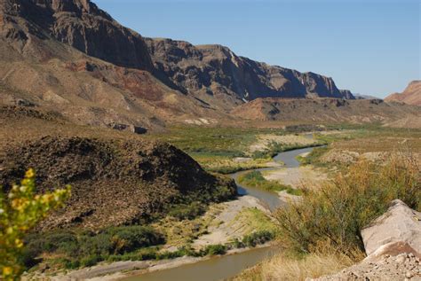
{"type": "Polygon", "coordinates": [[[147,37],[218,43],[385,98],[421,79],[419,0],[93,0],[147,37]]]}

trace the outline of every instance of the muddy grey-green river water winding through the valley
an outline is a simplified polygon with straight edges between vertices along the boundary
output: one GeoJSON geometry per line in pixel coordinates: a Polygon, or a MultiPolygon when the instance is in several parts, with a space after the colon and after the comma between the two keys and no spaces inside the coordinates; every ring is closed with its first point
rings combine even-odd
{"type": "MultiPolygon", "coordinates": [[[[284,168],[297,168],[299,162],[296,157],[305,152],[311,152],[314,148],[297,149],[290,152],[282,152],[274,157],[275,161],[282,161],[284,168]]],[[[258,171],[272,170],[275,168],[259,168],[258,171]]],[[[237,184],[237,191],[239,195],[250,195],[259,199],[263,205],[270,210],[277,207],[282,207],[286,204],[282,202],[276,192],[263,191],[257,188],[249,188],[240,185],[237,182],[238,176],[244,172],[239,172],[231,175],[237,184]]],[[[125,281],[213,281],[223,280],[229,277],[234,277],[242,270],[250,268],[260,261],[264,261],[279,250],[274,247],[262,247],[251,249],[238,254],[228,254],[223,256],[212,257],[211,259],[198,261],[193,264],[186,264],[173,269],[164,269],[155,272],[150,272],[137,277],[127,277],[125,281]]]]}

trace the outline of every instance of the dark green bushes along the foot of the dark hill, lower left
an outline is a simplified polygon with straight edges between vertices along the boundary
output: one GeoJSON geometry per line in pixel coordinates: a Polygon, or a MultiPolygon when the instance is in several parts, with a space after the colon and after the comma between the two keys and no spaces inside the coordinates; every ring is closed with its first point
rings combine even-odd
{"type": "MultiPolygon", "coordinates": [[[[71,230],[57,230],[34,233],[28,236],[28,257],[41,254],[60,256],[60,261],[68,268],[92,266],[105,261],[110,256],[134,254],[147,259],[144,248],[162,245],[163,235],[145,226],[111,227],[99,233],[71,230]]],[[[35,261],[26,259],[27,266],[35,261]]]]}

